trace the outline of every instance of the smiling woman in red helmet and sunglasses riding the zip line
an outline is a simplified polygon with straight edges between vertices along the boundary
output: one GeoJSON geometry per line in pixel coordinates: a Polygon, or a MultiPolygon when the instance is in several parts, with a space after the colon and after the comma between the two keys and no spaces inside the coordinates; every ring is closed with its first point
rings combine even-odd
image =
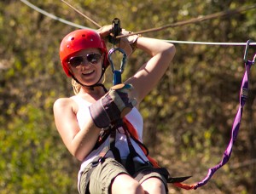
{"type": "Polygon", "coordinates": [[[80,193],[166,193],[165,176],[154,171],[140,143],[143,118],[137,107],[164,75],[175,48],[153,38],[123,37],[120,48],[129,54],[132,48],[141,49],[150,58],[108,92],[102,83],[108,67],[104,40],[110,29],[78,30],[63,38],[61,65],[73,77],[76,95],[55,101],[56,128],[67,149],[82,161],[80,193]],[[127,128],[135,129],[137,140],[127,128]]]}

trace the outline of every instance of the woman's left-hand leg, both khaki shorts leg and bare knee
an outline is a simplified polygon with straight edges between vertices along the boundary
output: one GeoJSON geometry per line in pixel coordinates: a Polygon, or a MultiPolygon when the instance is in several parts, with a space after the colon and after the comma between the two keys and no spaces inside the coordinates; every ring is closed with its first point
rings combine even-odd
{"type": "Polygon", "coordinates": [[[134,193],[144,194],[143,187],[137,180],[134,180],[125,170],[124,166],[113,158],[106,158],[105,162],[99,163],[90,174],[89,185],[85,185],[88,168],[84,169],[80,181],[80,193],[102,193],[102,194],[120,194],[134,193]]]}

